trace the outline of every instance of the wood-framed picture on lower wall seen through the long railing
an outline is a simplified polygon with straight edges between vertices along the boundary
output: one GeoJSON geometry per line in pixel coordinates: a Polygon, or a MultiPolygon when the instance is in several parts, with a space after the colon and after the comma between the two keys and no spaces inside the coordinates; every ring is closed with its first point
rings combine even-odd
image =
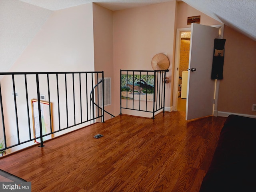
{"type": "MultiPolygon", "coordinates": [[[[38,112],[38,100],[31,100],[32,117],[33,117],[33,132],[34,138],[40,137],[40,124],[39,124],[39,112],[38,112]]],[[[49,134],[53,132],[52,121],[52,103],[40,101],[41,108],[41,120],[42,120],[42,134],[49,134]],[[49,108],[50,105],[50,108],[49,108]]],[[[53,134],[49,134],[43,137],[43,141],[53,138],[53,134]]],[[[40,143],[40,139],[35,139],[35,143],[40,143]]]]}

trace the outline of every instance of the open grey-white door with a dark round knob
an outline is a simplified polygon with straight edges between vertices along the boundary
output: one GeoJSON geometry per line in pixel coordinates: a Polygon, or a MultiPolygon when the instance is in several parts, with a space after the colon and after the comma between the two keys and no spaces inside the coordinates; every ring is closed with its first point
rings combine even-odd
{"type": "Polygon", "coordinates": [[[192,23],[186,120],[213,114],[216,80],[211,79],[214,39],[219,28],[192,23]]]}

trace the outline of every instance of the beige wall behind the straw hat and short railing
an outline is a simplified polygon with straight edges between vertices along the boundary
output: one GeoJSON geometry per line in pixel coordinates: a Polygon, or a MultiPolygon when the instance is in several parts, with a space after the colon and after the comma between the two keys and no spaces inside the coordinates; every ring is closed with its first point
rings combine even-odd
{"type": "MultiPolygon", "coordinates": [[[[154,4],[114,12],[114,112],[120,112],[120,69],[153,70],[155,54],[166,53],[172,59],[176,2],[154,4]]],[[[171,86],[166,87],[166,106],[170,107],[171,86]]],[[[130,112],[136,115],[137,112],[130,112]]],[[[150,114],[152,116],[152,114],[150,114]]]]}

